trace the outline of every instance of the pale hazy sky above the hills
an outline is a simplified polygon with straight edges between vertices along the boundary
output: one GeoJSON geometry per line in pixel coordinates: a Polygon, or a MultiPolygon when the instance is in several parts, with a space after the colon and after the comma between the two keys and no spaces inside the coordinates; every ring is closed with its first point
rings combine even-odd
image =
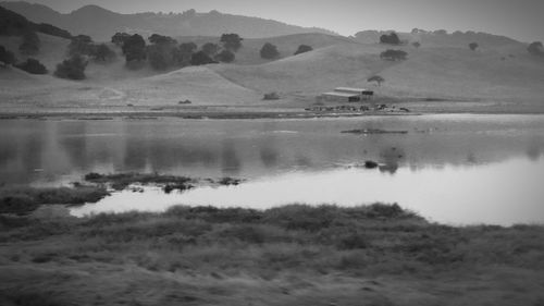
{"type": "Polygon", "coordinates": [[[342,35],[362,29],[481,30],[544,40],[544,0],[29,0],[60,12],[98,4],[122,12],[224,13],[318,26],[342,35]]]}

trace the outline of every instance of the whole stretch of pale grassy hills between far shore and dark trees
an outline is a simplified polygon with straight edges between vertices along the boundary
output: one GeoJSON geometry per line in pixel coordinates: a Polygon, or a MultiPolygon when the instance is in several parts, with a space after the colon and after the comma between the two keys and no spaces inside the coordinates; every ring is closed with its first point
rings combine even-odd
{"type": "MultiPolygon", "coordinates": [[[[268,38],[247,38],[231,64],[210,64],[158,72],[148,65],[128,70],[119,48],[110,63],[91,61],[87,79],[64,81],[51,74],[35,76],[13,68],[0,68],[2,108],[173,108],[189,99],[191,107],[264,106],[274,108],[310,105],[314,97],[337,86],[370,87],[380,97],[400,100],[493,101],[543,106],[544,60],[528,53],[527,45],[507,37],[481,34],[418,32],[401,34],[408,41],[387,46],[368,42],[378,32],[346,38],[310,33],[268,38]],[[362,42],[367,41],[367,42],[362,42]],[[468,41],[477,41],[475,51],[468,41]],[[264,42],[277,46],[281,57],[263,60],[264,42]],[[292,56],[299,45],[313,51],[292,56]],[[384,61],[386,49],[403,49],[406,61],[384,61]],[[385,83],[378,87],[367,78],[379,74],[385,83]],[[265,93],[277,91],[282,100],[267,102],[265,93]]],[[[65,57],[67,39],[39,34],[41,50],[36,56],[51,71],[65,57]]],[[[379,37],[379,36],[378,36],[379,37]]],[[[218,42],[218,36],[182,36],[180,41],[218,42]]],[[[0,36],[0,45],[17,52],[21,38],[0,36]]]]}

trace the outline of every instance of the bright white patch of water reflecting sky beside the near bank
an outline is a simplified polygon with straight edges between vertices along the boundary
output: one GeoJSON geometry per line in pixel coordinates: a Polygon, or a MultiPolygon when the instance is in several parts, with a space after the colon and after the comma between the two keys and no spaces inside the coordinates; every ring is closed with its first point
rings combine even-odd
{"type": "Polygon", "coordinates": [[[201,187],[182,194],[123,192],[75,216],[103,211],[163,211],[173,205],[269,208],[305,203],[354,206],[398,203],[433,221],[454,224],[544,223],[544,159],[512,159],[478,167],[375,170],[336,169],[296,172],[238,186],[201,187]]]}

